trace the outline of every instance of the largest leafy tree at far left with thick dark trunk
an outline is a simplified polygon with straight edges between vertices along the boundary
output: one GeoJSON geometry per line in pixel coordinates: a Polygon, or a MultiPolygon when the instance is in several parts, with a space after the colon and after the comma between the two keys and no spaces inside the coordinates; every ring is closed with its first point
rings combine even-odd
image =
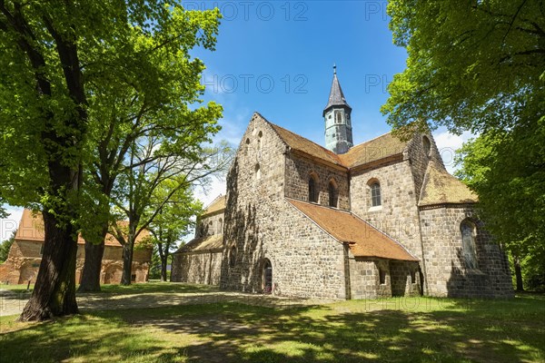
{"type": "MultiPolygon", "coordinates": [[[[176,91],[180,98],[194,94],[190,74],[203,64],[185,55],[195,45],[213,47],[217,12],[193,14],[163,1],[0,0],[0,201],[41,209],[45,222],[45,250],[21,319],[78,311],[76,240],[81,213],[89,209],[82,194],[84,165],[94,162],[94,142],[109,129],[105,100],[116,85],[135,79],[141,81],[133,84],[136,91],[147,82],[168,83],[165,67],[180,64],[189,79],[176,91]],[[162,62],[173,59],[168,54],[184,59],[162,62]]],[[[127,97],[154,107],[168,103],[165,92],[159,85],[127,97]]],[[[132,126],[118,127],[129,132],[132,126]]]]}

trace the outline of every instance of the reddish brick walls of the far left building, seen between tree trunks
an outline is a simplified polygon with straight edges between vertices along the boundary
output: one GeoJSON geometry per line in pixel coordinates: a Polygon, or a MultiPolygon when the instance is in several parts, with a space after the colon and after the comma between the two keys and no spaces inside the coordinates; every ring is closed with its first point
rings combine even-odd
{"type": "MultiPolygon", "coordinates": [[[[9,250],[8,258],[0,265],[0,281],[10,284],[25,284],[28,280],[35,282],[42,261],[40,250],[43,242],[30,240],[15,240],[9,250]]],[[[148,277],[149,261],[151,260],[151,249],[134,250],[133,271],[136,275],[136,282],[145,282],[148,277]]],[[[85,250],[84,245],[77,246],[75,281],[79,283],[84,268],[85,250]]],[[[101,270],[101,283],[119,283],[121,275],[114,275],[114,279],[108,280],[108,273],[113,270],[120,270],[123,267],[122,248],[116,246],[105,246],[104,258],[101,270]]]]}

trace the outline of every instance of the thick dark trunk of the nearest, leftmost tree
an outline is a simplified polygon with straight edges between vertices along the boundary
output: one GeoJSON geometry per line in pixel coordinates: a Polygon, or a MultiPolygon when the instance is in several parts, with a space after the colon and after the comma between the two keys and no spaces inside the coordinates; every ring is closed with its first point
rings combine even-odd
{"type": "Polygon", "coordinates": [[[45,320],[77,314],[75,301],[75,257],[77,233],[72,225],[59,227],[53,214],[43,212],[44,254],[32,296],[19,317],[20,321],[45,320]]]}

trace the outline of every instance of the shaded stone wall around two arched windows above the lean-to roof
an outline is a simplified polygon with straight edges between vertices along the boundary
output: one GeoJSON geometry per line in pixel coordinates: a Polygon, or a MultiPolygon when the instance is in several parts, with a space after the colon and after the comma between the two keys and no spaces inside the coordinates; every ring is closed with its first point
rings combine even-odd
{"type": "Polygon", "coordinates": [[[334,180],[337,184],[337,208],[350,210],[348,174],[324,164],[313,162],[297,155],[286,156],[285,196],[309,201],[309,177],[311,173],[318,176],[316,191],[319,194],[318,202],[329,206],[329,183],[334,180]]]}

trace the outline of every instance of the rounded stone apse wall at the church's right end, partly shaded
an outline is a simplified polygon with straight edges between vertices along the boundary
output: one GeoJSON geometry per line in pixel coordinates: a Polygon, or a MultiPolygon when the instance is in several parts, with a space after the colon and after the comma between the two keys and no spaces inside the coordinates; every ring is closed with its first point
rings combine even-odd
{"type": "Polygon", "coordinates": [[[483,230],[471,205],[438,206],[421,210],[422,244],[427,294],[441,297],[512,298],[507,258],[483,230]],[[460,224],[470,219],[477,226],[475,247],[478,270],[463,261],[460,224]]]}

